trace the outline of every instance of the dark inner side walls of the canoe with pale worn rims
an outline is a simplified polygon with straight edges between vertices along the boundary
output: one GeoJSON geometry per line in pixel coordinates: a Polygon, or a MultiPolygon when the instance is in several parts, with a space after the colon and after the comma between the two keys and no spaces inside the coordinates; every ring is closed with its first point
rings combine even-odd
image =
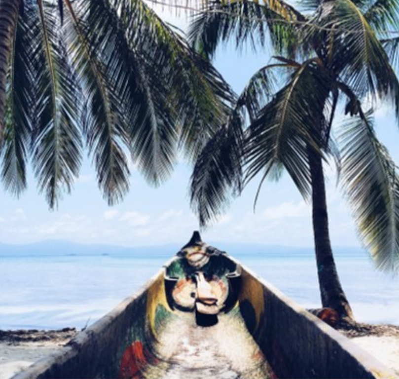
{"type": "MultiPolygon", "coordinates": [[[[271,366],[269,377],[395,378],[349,339],[241,267],[240,289],[228,312],[243,320],[271,366]]],[[[164,325],[175,317],[166,294],[163,268],[136,296],[14,378],[140,377],[146,364],[156,365],[153,347],[164,325]]]]}

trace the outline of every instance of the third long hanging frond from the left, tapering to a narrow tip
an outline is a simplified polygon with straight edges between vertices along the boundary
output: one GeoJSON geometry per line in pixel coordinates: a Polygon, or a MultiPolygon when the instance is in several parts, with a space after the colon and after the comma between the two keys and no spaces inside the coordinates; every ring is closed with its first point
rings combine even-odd
{"type": "Polygon", "coordinates": [[[126,41],[109,4],[66,4],[73,66],[87,101],[84,134],[99,187],[109,204],[114,204],[129,190],[129,106],[137,83],[132,84],[126,41]]]}

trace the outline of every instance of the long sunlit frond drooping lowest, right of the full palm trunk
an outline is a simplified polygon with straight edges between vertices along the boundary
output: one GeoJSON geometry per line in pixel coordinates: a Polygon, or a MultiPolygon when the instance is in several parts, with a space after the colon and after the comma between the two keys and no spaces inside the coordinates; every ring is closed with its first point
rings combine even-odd
{"type": "Polygon", "coordinates": [[[372,114],[346,122],[342,143],[343,186],[359,234],[377,268],[399,270],[399,176],[393,159],[377,140],[372,114]]]}

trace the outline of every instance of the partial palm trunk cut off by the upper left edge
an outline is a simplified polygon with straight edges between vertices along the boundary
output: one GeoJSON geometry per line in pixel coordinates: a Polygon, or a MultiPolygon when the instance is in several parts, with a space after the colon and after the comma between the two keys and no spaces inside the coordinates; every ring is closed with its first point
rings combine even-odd
{"type": "Polygon", "coordinates": [[[4,135],[5,83],[21,0],[0,0],[0,148],[4,135]]]}

